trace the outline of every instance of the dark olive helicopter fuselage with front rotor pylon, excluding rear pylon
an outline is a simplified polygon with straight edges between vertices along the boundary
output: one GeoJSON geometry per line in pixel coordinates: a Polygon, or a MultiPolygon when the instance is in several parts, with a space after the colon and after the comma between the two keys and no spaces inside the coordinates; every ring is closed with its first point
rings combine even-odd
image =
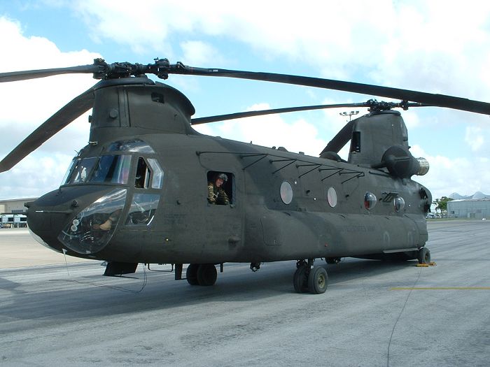
{"type": "Polygon", "coordinates": [[[89,145],[64,185],[30,204],[29,226],[49,247],[126,263],[220,264],[380,257],[426,243],[430,193],[418,183],[198,134],[185,96],[135,79],[96,90],[89,145]],[[229,205],[207,200],[216,173],[228,176],[229,205]]]}

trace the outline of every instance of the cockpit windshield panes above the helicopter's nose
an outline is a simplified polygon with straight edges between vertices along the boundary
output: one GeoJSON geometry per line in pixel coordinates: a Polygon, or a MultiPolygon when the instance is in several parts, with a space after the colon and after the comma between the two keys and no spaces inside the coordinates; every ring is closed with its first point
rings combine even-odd
{"type": "Polygon", "coordinates": [[[73,159],[62,185],[84,182],[126,184],[130,175],[130,155],[103,155],[73,159]]]}

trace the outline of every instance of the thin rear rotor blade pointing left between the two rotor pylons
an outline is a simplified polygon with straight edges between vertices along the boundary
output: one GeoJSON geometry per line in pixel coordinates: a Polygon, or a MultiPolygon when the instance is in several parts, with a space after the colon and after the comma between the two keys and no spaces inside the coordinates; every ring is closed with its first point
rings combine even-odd
{"type": "Polygon", "coordinates": [[[367,107],[367,106],[366,103],[363,102],[363,103],[340,103],[340,104],[324,104],[324,105],[317,105],[317,106],[274,108],[272,110],[256,110],[256,111],[247,111],[247,112],[239,112],[239,113],[229,113],[227,115],[199,117],[193,119],[190,123],[193,125],[207,124],[209,122],[235,120],[235,119],[241,119],[243,117],[253,117],[253,116],[262,116],[262,115],[272,115],[275,113],[290,113],[290,112],[297,112],[297,111],[323,110],[325,108],[343,108],[343,107],[367,107]]]}

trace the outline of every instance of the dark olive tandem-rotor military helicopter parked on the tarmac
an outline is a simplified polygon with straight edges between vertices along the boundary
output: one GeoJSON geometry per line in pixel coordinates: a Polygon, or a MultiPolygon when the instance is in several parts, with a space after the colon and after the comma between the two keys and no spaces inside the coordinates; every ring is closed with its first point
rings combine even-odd
{"type": "Polygon", "coordinates": [[[490,115],[490,103],[338,80],[276,73],[153,64],[94,64],[0,73],[0,82],[62,73],[93,73],[92,88],[41,124],[0,162],[8,171],[90,108],[90,139],[59,189],[26,203],[31,232],[74,257],[107,261],[104,275],[134,273],[139,263],[172,264],[176,280],[189,264],[190,285],[214,285],[216,265],[296,260],[297,292],[321,294],[323,266],[342,257],[430,262],[426,213],[431,194],[412,180],[428,162],[409,152],[398,111],[440,106],[490,115]],[[192,119],[179,90],[146,74],[209,75],[337,89],[400,103],[302,106],[192,119]],[[364,106],[319,154],[206,136],[203,124],[251,115],[364,106]],[[349,143],[349,159],[339,150],[349,143]],[[218,187],[215,187],[217,185],[218,187]],[[214,196],[214,197],[213,197],[214,196]],[[216,205],[222,196],[224,205],[216,205]],[[213,200],[215,199],[215,200],[213,200]]]}

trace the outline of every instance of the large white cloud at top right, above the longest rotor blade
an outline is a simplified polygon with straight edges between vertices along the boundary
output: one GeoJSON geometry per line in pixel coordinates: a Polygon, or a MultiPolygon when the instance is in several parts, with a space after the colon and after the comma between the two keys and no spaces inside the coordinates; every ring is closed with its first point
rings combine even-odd
{"type": "MultiPolygon", "coordinates": [[[[465,6],[389,0],[375,5],[355,0],[307,1],[302,6],[214,1],[196,6],[192,1],[153,0],[140,1],[151,9],[144,22],[134,21],[132,2],[118,4],[79,1],[76,9],[93,34],[134,49],[168,50],[169,57],[175,54],[175,36],[193,42],[214,37],[239,41],[265,59],[307,63],[317,68],[312,74],[320,71],[328,78],[351,78],[367,68],[358,76],[383,85],[490,96],[479,82],[479,75],[489,75],[490,5],[480,1],[465,6]]],[[[195,64],[194,59],[184,61],[195,64]]]]}

